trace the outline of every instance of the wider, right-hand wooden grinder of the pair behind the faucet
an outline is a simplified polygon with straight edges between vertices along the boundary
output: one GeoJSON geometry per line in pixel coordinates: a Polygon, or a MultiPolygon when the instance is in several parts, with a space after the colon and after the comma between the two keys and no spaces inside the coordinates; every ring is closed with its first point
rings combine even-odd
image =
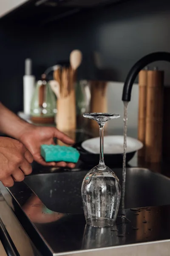
{"type": "Polygon", "coordinates": [[[147,109],[145,134],[145,161],[159,163],[162,156],[164,72],[147,73],[147,109]]]}

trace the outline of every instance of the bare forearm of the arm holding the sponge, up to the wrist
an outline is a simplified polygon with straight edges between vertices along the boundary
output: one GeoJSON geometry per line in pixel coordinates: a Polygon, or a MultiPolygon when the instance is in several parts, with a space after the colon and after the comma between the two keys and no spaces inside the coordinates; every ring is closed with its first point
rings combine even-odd
{"type": "Polygon", "coordinates": [[[20,119],[0,102],[0,132],[19,139],[23,131],[32,125],[20,119]]]}

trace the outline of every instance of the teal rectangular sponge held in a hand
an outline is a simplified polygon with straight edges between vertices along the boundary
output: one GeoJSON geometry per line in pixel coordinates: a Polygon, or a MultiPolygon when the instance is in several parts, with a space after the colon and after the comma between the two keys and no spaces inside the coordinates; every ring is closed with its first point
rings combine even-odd
{"type": "Polygon", "coordinates": [[[46,162],[77,163],[79,151],[76,148],[59,145],[41,145],[41,155],[46,162]]]}

